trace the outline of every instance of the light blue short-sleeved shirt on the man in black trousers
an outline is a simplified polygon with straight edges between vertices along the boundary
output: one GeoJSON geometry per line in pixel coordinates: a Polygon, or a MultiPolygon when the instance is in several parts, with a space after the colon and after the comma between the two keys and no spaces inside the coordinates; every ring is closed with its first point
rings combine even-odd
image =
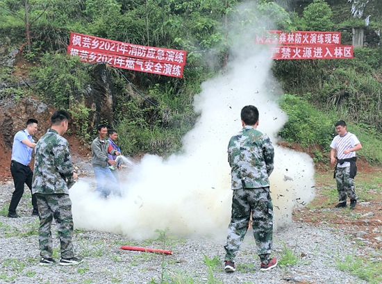
{"type": "Polygon", "coordinates": [[[33,140],[32,136],[26,129],[16,133],[15,137],[13,138],[11,159],[26,166],[29,164],[29,162],[31,162],[33,149],[26,146],[26,144],[22,142],[22,140],[25,139],[28,139],[31,142],[35,142],[35,140],[33,140]]]}

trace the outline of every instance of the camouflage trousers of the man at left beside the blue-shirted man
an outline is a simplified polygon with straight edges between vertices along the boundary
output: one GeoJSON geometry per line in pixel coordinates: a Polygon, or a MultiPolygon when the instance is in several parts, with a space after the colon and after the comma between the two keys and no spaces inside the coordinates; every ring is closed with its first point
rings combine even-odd
{"type": "Polygon", "coordinates": [[[35,194],[40,215],[38,242],[40,256],[52,258],[53,240],[51,237],[51,222],[56,220],[58,236],[60,237],[61,258],[74,256],[72,235],[73,217],[72,201],[68,194],[35,194]]]}

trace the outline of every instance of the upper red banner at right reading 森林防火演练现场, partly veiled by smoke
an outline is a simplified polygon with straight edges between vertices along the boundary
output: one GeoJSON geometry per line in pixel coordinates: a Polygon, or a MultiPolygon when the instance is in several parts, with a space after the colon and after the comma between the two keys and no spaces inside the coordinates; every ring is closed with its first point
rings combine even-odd
{"type": "Polygon", "coordinates": [[[256,35],[258,44],[328,45],[341,44],[341,33],[326,31],[268,31],[268,35],[256,35]]]}

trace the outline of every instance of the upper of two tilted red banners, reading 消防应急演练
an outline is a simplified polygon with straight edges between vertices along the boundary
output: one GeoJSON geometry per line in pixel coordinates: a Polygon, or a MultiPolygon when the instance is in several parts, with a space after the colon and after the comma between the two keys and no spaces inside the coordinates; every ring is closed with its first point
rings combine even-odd
{"type": "Polygon", "coordinates": [[[70,45],[77,49],[86,49],[94,53],[117,54],[130,58],[142,58],[156,62],[166,62],[184,65],[187,52],[176,49],[161,49],[158,47],[144,47],[142,45],[106,40],[92,35],[70,33],[70,45]]]}

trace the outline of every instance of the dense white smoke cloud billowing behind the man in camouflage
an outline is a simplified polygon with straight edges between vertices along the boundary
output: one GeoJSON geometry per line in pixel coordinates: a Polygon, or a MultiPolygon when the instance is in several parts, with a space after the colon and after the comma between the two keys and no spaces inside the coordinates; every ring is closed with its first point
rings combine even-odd
{"type": "Polygon", "coordinates": [[[226,150],[230,137],[242,127],[240,110],[249,104],[258,107],[258,130],[267,133],[275,147],[270,176],[275,229],[291,221],[294,207],[313,199],[312,159],[276,144],[276,134],[288,118],[270,92],[277,90],[277,83],[268,51],[252,46],[238,54],[226,74],[201,85],[194,98],[194,109],[201,115],[183,138],[182,153],[167,160],[144,156],[121,178],[122,199],[98,199],[85,181],[72,187],[77,228],[135,239],[153,237],[156,229],[167,227],[177,235],[225,237],[232,198],[226,150]]]}

